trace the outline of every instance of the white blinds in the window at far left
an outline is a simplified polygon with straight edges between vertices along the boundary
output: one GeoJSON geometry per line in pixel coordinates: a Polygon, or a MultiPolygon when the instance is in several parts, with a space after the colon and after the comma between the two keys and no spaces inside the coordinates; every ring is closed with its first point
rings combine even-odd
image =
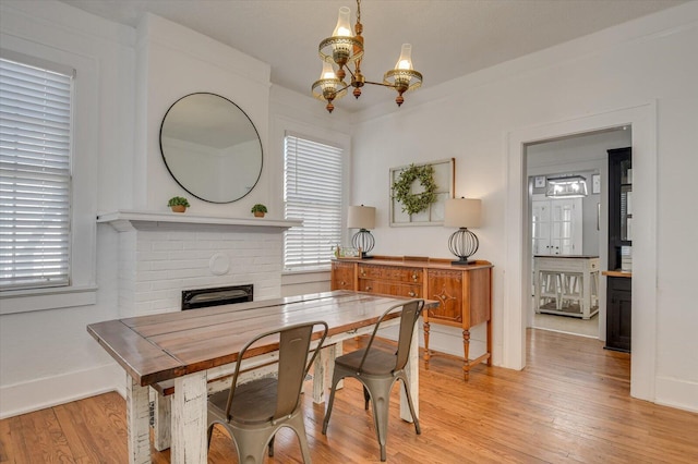
{"type": "Polygon", "coordinates": [[[0,59],[0,290],[70,284],[72,75],[0,59]]]}

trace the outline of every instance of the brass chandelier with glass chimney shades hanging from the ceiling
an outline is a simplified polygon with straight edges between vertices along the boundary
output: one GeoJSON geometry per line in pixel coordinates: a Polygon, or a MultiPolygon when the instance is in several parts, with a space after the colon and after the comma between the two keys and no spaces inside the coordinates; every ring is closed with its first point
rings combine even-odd
{"type": "Polygon", "coordinates": [[[422,85],[422,74],[412,69],[412,46],[402,44],[400,58],[395,68],[386,72],[383,82],[366,81],[361,73],[361,59],[363,58],[363,25],[361,24],[361,0],[357,0],[356,35],[352,35],[350,14],[348,7],[339,9],[337,26],[332,34],[320,42],[318,53],[323,60],[323,71],[320,80],[312,86],[313,97],[326,101],[328,112],[335,109],[333,101],[344,97],[349,87],[353,87],[353,96],[361,96],[361,87],[365,84],[381,85],[397,91],[395,102],[401,106],[405,94],[422,85]],[[353,70],[352,70],[353,68],[353,70]],[[351,75],[349,83],[345,82],[347,71],[351,75]]]}

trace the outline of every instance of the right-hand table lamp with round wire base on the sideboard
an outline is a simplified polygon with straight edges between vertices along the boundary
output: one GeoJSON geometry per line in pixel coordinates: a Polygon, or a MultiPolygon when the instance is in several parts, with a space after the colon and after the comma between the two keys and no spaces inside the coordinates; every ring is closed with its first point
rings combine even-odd
{"type": "Polygon", "coordinates": [[[480,247],[478,236],[468,228],[480,227],[482,202],[474,198],[450,198],[445,203],[444,227],[458,228],[448,239],[448,249],[458,257],[452,265],[469,265],[468,258],[480,247]]]}

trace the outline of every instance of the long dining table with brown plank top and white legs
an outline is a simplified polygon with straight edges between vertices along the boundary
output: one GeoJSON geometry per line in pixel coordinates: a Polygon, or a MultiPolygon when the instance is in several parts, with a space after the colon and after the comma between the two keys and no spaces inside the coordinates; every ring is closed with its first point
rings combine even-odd
{"type": "MultiPolygon", "coordinates": [[[[207,376],[236,363],[245,342],[273,328],[324,320],[329,331],[323,346],[336,346],[342,340],[370,333],[388,307],[407,301],[409,298],[334,291],[88,325],[89,334],[127,374],[129,462],[151,462],[148,387],[173,380],[171,462],[206,463],[207,376]]],[[[426,302],[424,309],[436,305],[437,302],[426,302]]],[[[387,321],[387,326],[397,325],[398,315],[387,321]]],[[[419,338],[414,335],[413,340],[419,338]]],[[[260,355],[274,350],[268,346],[261,350],[260,355]]],[[[329,366],[318,369],[322,366],[316,361],[314,392],[325,390],[325,377],[332,376],[334,362],[334,356],[318,358],[329,366]]],[[[418,343],[412,343],[407,371],[419,415],[418,362],[418,343]]],[[[322,400],[323,395],[314,398],[322,400]]],[[[402,393],[400,416],[411,422],[406,401],[402,393]]]]}

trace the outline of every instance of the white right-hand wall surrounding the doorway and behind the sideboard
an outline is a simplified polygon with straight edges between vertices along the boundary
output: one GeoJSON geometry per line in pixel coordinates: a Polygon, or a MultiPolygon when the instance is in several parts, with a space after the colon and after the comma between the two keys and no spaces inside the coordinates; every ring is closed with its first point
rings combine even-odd
{"type": "MultiPolygon", "coordinates": [[[[657,280],[652,278],[654,269],[639,270],[634,278],[634,294],[639,300],[634,298],[634,315],[639,317],[637,323],[634,320],[633,382],[640,387],[634,394],[698,411],[698,312],[690,291],[698,253],[686,246],[693,242],[698,219],[686,215],[695,208],[690,196],[681,193],[682,185],[691,184],[698,172],[696,44],[698,3],[690,2],[408,94],[399,110],[389,105],[366,110],[356,129],[352,202],[377,207],[375,253],[448,257],[450,230],[388,227],[388,170],[455,157],[456,195],[483,200],[484,224],[476,231],[480,239],[476,257],[495,265],[494,363],[521,367],[525,358],[513,353],[520,353],[522,345],[524,326],[516,323],[521,320],[521,293],[517,295],[516,289],[525,279],[520,266],[526,254],[520,240],[524,221],[517,222],[516,218],[525,205],[517,202],[525,188],[513,195],[508,188],[509,172],[517,178],[524,178],[525,172],[513,167],[520,164],[520,159],[509,154],[512,136],[529,129],[534,133],[537,127],[554,123],[569,123],[573,131],[583,126],[575,125],[576,120],[634,107],[651,112],[657,103],[657,125],[643,125],[646,133],[637,134],[645,141],[637,167],[646,170],[645,192],[658,192],[657,198],[645,198],[643,220],[648,227],[645,243],[638,246],[647,255],[645,262],[652,266],[657,261],[658,266],[657,280]],[[657,141],[655,149],[652,141],[657,141]],[[519,240],[512,240],[509,234],[519,240]],[[514,300],[507,300],[507,295],[514,295],[514,300]]],[[[592,129],[606,127],[588,130],[592,129]]],[[[633,130],[635,145],[636,127],[633,130]]],[[[570,133],[546,137],[561,135],[570,133]]],[[[521,146],[514,149],[522,151],[521,146]]],[[[636,265],[642,262],[637,255],[634,258],[636,265]]],[[[482,340],[483,330],[478,329],[473,338],[482,340]]],[[[458,341],[459,334],[454,331],[454,353],[460,352],[458,341]]]]}

